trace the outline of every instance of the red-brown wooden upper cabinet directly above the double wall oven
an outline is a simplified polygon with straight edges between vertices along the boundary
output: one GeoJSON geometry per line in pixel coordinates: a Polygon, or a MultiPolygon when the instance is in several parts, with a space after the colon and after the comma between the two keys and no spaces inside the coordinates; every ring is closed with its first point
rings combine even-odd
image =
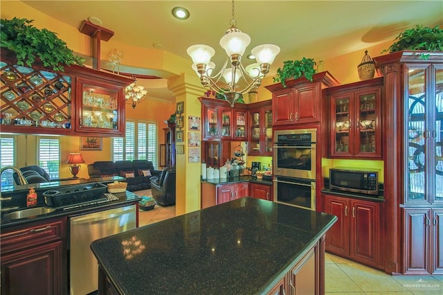
{"type": "Polygon", "coordinates": [[[338,85],[327,71],[316,73],[312,82],[306,78],[287,80],[266,86],[272,92],[273,126],[320,122],[322,89],[338,85]]]}

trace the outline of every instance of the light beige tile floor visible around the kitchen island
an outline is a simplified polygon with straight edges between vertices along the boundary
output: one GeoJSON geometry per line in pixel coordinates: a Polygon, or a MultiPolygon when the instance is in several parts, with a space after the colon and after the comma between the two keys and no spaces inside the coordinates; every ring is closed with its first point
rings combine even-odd
{"type": "MultiPolygon", "coordinates": [[[[151,190],[134,192],[149,196],[151,190]]],[[[156,204],[151,211],[138,211],[138,226],[175,216],[175,206],[156,204]]],[[[428,295],[443,294],[443,276],[390,276],[383,271],[326,253],[325,294],[428,295]]]]}

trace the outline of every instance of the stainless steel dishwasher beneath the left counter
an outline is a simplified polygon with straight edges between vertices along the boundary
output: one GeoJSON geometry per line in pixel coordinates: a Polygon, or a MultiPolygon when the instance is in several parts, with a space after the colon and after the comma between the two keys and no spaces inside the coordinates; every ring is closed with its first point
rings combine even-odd
{"type": "Polygon", "coordinates": [[[69,269],[72,295],[98,289],[98,262],[91,242],[136,228],[136,205],[114,208],[69,218],[69,269]]]}

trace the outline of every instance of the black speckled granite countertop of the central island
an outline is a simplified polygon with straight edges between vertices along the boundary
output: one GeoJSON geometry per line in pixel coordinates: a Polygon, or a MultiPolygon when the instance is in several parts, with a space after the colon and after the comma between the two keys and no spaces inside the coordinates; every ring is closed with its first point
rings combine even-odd
{"type": "Polygon", "coordinates": [[[337,217],[244,197],[92,242],[121,294],[258,294],[337,217]]]}

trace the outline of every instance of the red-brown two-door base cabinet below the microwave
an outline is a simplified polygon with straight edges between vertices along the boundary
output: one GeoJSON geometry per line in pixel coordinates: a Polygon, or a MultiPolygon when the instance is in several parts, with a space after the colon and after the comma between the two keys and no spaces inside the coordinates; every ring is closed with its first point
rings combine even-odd
{"type": "Polygon", "coordinates": [[[338,217],[326,235],[326,251],[381,269],[380,204],[323,195],[324,211],[338,217]]]}

